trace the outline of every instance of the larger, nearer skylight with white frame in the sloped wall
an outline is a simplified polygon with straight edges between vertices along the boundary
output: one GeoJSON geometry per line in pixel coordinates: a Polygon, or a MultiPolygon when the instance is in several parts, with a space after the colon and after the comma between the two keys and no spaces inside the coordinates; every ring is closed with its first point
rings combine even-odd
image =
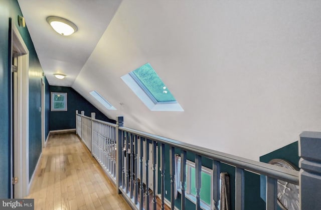
{"type": "Polygon", "coordinates": [[[121,79],[151,111],[184,111],[174,95],[149,63],[129,72],[121,79]]]}

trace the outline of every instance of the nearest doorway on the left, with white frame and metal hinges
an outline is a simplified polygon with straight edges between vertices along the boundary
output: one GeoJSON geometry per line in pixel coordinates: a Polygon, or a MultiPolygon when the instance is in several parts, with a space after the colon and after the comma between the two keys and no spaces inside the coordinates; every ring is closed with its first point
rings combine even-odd
{"type": "Polygon", "coordinates": [[[22,198],[29,193],[29,51],[11,20],[10,26],[13,181],[11,196],[22,198]]]}

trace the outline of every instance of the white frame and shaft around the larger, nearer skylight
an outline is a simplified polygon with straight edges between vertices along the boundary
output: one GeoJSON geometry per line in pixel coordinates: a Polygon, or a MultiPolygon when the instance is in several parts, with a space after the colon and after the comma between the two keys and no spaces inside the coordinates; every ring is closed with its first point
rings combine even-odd
{"type": "MultiPolygon", "coordinates": [[[[146,64],[149,64],[149,63],[146,63],[146,64]]],[[[144,64],[144,65],[146,65],[146,64],[144,64]]],[[[174,100],[172,100],[172,101],[157,101],[157,99],[145,87],[145,85],[140,81],[140,79],[134,74],[133,71],[123,75],[121,77],[121,79],[139,97],[139,99],[145,104],[145,106],[150,111],[184,112],[183,108],[181,107],[180,103],[177,100],[175,100],[175,101],[174,100]]],[[[155,70],[153,69],[153,71],[155,71],[155,70]]],[[[156,73],[156,71],[155,71],[155,73],[156,73]]],[[[159,78],[159,76],[158,76],[158,78],[159,78]]],[[[161,78],[159,78],[159,79],[161,79],[161,78]]],[[[165,83],[164,83],[164,85],[165,85],[165,83]]],[[[174,95],[173,95],[173,97],[174,97],[174,95]]]]}

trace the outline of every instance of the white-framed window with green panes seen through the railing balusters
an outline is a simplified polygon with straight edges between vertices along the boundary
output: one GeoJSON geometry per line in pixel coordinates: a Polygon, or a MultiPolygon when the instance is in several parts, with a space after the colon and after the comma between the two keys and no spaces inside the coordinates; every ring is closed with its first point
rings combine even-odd
{"type": "MultiPolygon", "coordinates": [[[[181,159],[181,157],[178,157],[181,159]]],[[[181,161],[179,160],[178,163],[181,161]]],[[[176,167],[179,167],[176,165],[176,167]]],[[[180,170],[178,168],[178,170],[180,170]]],[[[211,197],[212,197],[212,169],[202,166],[202,186],[200,192],[201,208],[202,209],[212,209],[211,208],[211,197]]],[[[177,183],[181,183],[180,176],[177,183]]],[[[192,202],[196,203],[196,188],[195,188],[195,163],[192,161],[186,161],[186,183],[185,183],[185,195],[192,202]]],[[[178,188],[181,192],[181,188],[178,188]]]]}

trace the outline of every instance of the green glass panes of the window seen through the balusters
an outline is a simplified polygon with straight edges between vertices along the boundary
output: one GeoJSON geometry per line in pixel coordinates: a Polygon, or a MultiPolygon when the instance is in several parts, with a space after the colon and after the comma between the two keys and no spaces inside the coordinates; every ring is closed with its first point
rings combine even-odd
{"type": "MultiPolygon", "coordinates": [[[[211,175],[202,172],[202,188],[200,192],[200,197],[203,202],[211,205],[211,175]]],[[[196,195],[195,188],[195,168],[191,167],[191,194],[196,195]]]]}

